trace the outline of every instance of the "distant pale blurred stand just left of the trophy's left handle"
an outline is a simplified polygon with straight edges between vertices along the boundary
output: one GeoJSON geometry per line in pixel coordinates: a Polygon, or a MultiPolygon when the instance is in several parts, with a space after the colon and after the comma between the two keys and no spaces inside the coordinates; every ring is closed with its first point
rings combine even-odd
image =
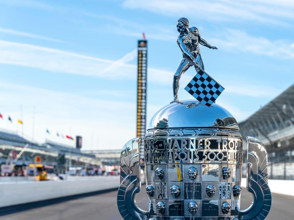
{"type": "Polygon", "coordinates": [[[121,150],[82,150],[83,153],[95,155],[102,165],[120,165],[121,150]]]}

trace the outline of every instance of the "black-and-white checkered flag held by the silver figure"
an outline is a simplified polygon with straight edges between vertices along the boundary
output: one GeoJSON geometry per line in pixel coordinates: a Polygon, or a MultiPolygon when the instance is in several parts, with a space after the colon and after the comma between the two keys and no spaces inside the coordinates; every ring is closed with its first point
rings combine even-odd
{"type": "Polygon", "coordinates": [[[207,106],[211,106],[224,89],[224,87],[202,70],[199,70],[185,87],[188,93],[207,106]]]}

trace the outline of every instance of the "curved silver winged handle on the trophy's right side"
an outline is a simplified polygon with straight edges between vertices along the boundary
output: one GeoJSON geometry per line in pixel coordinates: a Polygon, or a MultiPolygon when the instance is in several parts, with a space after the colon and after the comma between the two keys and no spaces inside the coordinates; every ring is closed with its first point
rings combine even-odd
{"type": "Polygon", "coordinates": [[[253,195],[248,209],[240,211],[240,220],[263,220],[270,211],[272,195],[268,187],[268,156],[265,146],[253,137],[246,137],[247,153],[247,190],[253,195]]]}

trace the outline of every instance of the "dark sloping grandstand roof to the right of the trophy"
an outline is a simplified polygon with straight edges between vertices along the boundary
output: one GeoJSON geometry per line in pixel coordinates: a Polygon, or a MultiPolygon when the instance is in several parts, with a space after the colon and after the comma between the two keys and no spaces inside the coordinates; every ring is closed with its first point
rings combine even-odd
{"type": "MultiPolygon", "coordinates": [[[[250,104],[250,103],[249,103],[250,104]]],[[[265,145],[277,146],[294,137],[294,84],[239,123],[243,138],[253,136],[265,145]]]]}

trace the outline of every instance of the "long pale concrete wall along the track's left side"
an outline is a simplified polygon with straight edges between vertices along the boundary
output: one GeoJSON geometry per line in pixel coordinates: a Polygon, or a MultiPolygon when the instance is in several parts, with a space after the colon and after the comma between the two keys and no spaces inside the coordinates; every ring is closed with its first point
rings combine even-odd
{"type": "Polygon", "coordinates": [[[0,207],[119,187],[119,176],[73,177],[63,181],[0,182],[0,207]]]}

